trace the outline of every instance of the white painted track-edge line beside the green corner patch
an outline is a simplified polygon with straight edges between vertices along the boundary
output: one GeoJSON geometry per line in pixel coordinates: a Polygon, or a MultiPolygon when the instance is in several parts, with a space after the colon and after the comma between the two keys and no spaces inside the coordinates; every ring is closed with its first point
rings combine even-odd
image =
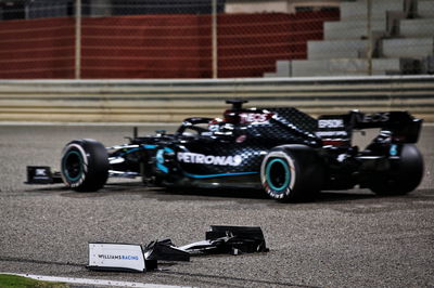
{"type": "MultiPolygon", "coordinates": [[[[138,288],[182,288],[182,287],[188,287],[188,286],[148,284],[148,283],[137,283],[137,282],[118,282],[118,280],[105,280],[105,279],[54,277],[54,276],[43,276],[43,275],[33,275],[33,274],[3,273],[3,272],[1,272],[0,274],[22,276],[22,277],[27,277],[27,278],[33,278],[36,280],[43,280],[43,282],[59,282],[59,283],[66,283],[66,284],[84,284],[84,285],[103,285],[103,286],[112,286],[112,287],[138,287],[138,288]]],[[[191,286],[189,286],[189,287],[191,287],[191,286]]]]}

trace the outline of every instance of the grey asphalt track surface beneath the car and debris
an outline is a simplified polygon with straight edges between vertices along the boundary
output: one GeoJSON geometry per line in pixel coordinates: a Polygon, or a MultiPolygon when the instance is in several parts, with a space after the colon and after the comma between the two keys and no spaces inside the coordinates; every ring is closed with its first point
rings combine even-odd
{"type": "Polygon", "coordinates": [[[73,139],[108,146],[128,135],[129,127],[0,126],[0,272],[197,287],[434,286],[434,127],[419,142],[425,178],[407,196],[352,189],[291,205],[257,192],[180,194],[139,180],[98,193],[23,184],[28,165],[59,168],[73,139]],[[270,251],[199,257],[143,274],[85,269],[88,241],[184,245],[204,239],[210,224],[259,225],[270,251]]]}

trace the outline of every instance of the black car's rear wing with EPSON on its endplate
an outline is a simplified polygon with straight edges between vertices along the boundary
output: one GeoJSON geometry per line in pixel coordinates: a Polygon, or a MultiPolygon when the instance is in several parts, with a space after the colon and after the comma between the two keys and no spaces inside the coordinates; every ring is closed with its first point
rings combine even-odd
{"type": "Polygon", "coordinates": [[[323,145],[346,145],[350,143],[354,130],[380,128],[390,132],[391,143],[417,143],[422,122],[408,112],[365,114],[352,110],[344,115],[320,116],[316,134],[323,145]]]}

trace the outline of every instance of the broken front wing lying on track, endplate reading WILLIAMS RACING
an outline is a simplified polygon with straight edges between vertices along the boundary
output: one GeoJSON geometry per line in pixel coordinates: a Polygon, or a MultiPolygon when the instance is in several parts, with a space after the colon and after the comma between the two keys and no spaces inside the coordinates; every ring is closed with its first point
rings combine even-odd
{"type": "Polygon", "coordinates": [[[89,243],[89,264],[93,271],[145,272],[157,269],[157,261],[190,261],[191,256],[268,252],[258,226],[212,225],[206,239],[175,246],[170,239],[141,245],[89,243]]]}

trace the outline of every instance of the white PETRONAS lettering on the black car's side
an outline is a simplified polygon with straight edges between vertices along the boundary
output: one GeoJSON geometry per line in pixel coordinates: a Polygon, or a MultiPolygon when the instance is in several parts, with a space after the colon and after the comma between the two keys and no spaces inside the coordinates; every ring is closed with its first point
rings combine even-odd
{"type": "Polygon", "coordinates": [[[214,156],[199,153],[178,153],[178,161],[184,163],[205,163],[219,166],[239,166],[243,161],[240,155],[235,156],[214,156]]]}

